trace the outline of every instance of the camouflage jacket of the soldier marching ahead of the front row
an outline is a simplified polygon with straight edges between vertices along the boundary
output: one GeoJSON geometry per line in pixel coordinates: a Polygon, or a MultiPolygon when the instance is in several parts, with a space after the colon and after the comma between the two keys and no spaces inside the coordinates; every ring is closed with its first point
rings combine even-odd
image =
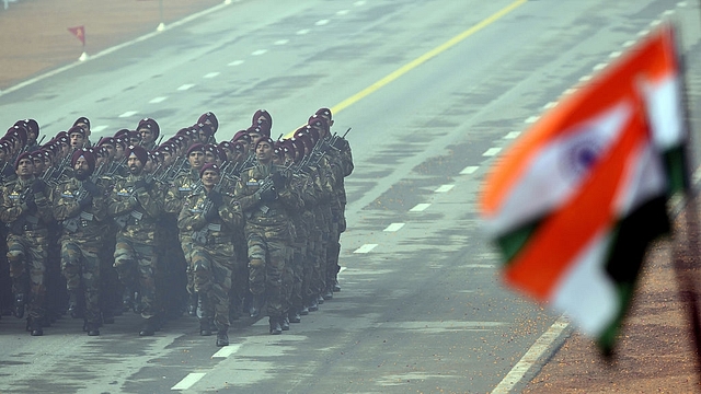
{"type": "Polygon", "coordinates": [[[233,195],[222,193],[223,202],[211,220],[205,218],[208,205],[207,190],[203,187],[183,200],[183,209],[177,217],[177,228],[184,236],[199,245],[231,243],[237,229],[243,227],[243,211],[233,195]]]}

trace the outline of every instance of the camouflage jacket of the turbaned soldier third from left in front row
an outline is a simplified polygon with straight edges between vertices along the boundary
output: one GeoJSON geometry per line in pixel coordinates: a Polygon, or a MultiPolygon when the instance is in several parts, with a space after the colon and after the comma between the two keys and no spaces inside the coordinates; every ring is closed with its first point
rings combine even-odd
{"type": "Polygon", "coordinates": [[[119,227],[118,235],[152,244],[159,216],[163,212],[163,188],[153,184],[149,190],[134,185],[143,175],[117,177],[110,194],[107,215],[119,227]]]}

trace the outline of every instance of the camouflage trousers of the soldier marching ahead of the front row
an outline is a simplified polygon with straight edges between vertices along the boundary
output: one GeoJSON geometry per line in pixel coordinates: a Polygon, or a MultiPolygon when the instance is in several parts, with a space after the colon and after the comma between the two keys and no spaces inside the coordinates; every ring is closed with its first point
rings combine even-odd
{"type": "Polygon", "coordinates": [[[217,328],[229,326],[229,297],[234,266],[233,245],[193,245],[194,290],[200,298],[202,317],[214,318],[217,328]]]}

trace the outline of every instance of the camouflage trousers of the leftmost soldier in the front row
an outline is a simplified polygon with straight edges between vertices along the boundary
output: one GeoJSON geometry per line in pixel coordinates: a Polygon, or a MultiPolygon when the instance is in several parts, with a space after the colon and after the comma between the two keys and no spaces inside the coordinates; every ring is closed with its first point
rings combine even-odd
{"type": "Polygon", "coordinates": [[[12,292],[27,297],[27,314],[32,318],[46,314],[46,230],[8,235],[12,292]]]}

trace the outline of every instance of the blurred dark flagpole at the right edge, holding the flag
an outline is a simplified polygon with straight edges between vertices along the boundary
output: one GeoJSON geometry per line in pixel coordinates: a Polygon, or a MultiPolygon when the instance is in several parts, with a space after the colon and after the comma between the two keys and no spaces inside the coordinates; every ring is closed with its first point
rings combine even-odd
{"type": "MultiPolygon", "coordinates": [[[[701,0],[700,0],[701,1],[701,0]]],[[[676,34],[675,34],[676,36],[676,34]]],[[[675,40],[676,45],[679,45],[675,40]]],[[[688,132],[688,139],[691,139],[691,123],[689,121],[689,94],[687,91],[687,63],[686,57],[681,55],[681,50],[677,50],[679,67],[681,71],[681,100],[685,108],[683,116],[683,127],[688,132]]],[[[686,237],[683,243],[681,239],[675,240],[674,242],[674,267],[675,274],[677,276],[677,282],[679,283],[679,296],[681,298],[681,302],[685,303],[687,308],[687,312],[689,313],[689,321],[691,323],[691,337],[693,341],[693,349],[696,351],[696,362],[697,362],[697,378],[699,379],[699,384],[701,384],[701,316],[699,316],[699,301],[698,301],[698,290],[696,286],[694,276],[688,275],[689,270],[693,270],[697,268],[698,264],[696,258],[698,258],[701,247],[699,245],[699,210],[697,207],[696,196],[691,186],[691,175],[692,171],[690,169],[690,158],[691,158],[691,142],[687,141],[683,144],[682,149],[685,151],[683,158],[685,163],[685,172],[686,179],[683,183],[683,192],[682,192],[682,209],[683,209],[683,218],[685,218],[685,227],[686,227],[686,237]],[[685,257],[693,260],[689,260],[689,263],[685,263],[685,257]]]]}

